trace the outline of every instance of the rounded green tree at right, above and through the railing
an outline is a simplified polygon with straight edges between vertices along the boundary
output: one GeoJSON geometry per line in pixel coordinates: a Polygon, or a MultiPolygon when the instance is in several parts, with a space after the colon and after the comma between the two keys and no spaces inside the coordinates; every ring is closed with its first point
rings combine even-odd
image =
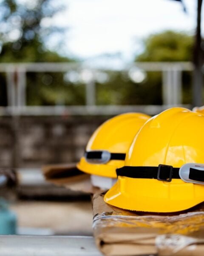
{"type": "MultiPolygon", "coordinates": [[[[186,33],[164,31],[148,36],[143,41],[144,51],[137,55],[135,61],[191,61],[193,56],[193,36],[186,33]]],[[[191,102],[192,74],[184,72],[183,103],[191,102]]],[[[162,104],[161,73],[148,72],[147,79],[142,84],[126,90],[126,101],[143,99],[145,104],[162,104]]]]}

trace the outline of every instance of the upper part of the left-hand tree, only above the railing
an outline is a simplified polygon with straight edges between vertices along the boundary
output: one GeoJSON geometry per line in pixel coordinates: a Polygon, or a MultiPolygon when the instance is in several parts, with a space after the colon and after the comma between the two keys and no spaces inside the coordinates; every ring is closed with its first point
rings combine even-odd
{"type": "Polygon", "coordinates": [[[68,61],[45,47],[51,37],[60,38],[64,32],[64,28],[42,26],[43,20],[51,19],[62,10],[62,6],[52,3],[53,0],[25,3],[3,0],[0,3],[0,62],[68,61]]]}

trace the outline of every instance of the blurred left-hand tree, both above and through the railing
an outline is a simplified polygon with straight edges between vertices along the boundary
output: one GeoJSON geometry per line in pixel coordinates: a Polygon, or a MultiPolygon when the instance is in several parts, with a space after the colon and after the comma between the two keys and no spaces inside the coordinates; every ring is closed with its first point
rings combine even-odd
{"type": "MultiPolygon", "coordinates": [[[[54,0],[1,1],[0,62],[74,61],[48,50],[45,44],[54,37],[63,46],[66,28],[42,25],[63,8],[54,0]]],[[[0,81],[0,102],[6,105],[5,74],[0,74],[0,81]]],[[[27,73],[28,105],[83,104],[83,91],[83,85],[65,84],[62,73],[27,73]]]]}

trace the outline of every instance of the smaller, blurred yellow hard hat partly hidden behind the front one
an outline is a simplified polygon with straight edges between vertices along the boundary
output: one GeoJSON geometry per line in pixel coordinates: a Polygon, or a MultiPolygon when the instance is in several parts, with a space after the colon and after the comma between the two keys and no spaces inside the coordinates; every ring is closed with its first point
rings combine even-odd
{"type": "Polygon", "coordinates": [[[104,122],[91,136],[77,168],[91,175],[116,178],[135,134],[150,118],[143,113],[125,113],[104,122]]]}

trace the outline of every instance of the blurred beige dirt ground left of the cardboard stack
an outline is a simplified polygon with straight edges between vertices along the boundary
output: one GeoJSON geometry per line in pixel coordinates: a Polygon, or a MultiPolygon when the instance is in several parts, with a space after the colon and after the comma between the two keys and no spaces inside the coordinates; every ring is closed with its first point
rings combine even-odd
{"type": "Polygon", "coordinates": [[[18,201],[10,209],[17,214],[19,227],[47,228],[54,234],[92,235],[90,201],[18,201]]]}

